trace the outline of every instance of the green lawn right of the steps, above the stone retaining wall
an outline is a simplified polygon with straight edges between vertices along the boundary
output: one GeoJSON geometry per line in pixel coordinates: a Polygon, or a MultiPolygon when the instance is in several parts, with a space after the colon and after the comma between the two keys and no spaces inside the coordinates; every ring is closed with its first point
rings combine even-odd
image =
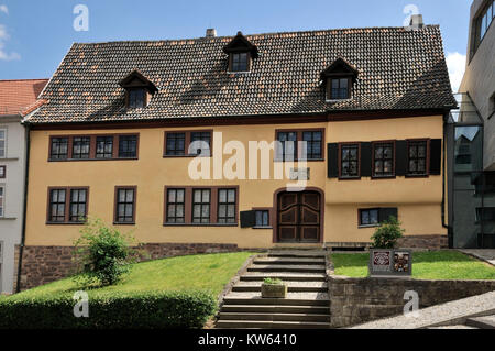
{"type": "MultiPolygon", "coordinates": [[[[367,276],[369,253],[332,253],[337,275],[367,276]]],[[[418,279],[495,279],[495,267],[458,251],[413,253],[413,277],[418,279]]]]}

